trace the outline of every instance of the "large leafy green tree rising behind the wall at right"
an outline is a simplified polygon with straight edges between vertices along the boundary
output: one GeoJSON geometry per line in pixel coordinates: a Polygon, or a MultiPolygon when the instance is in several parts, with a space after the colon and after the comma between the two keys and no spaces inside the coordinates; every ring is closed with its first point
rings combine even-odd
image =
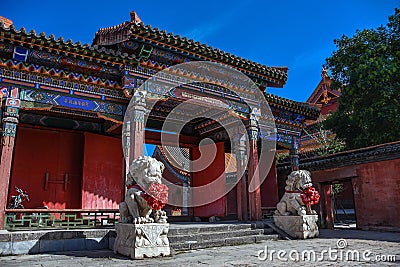
{"type": "Polygon", "coordinates": [[[400,140],[400,9],[386,26],[334,43],[326,67],[342,96],[325,127],[349,148],[400,140]]]}

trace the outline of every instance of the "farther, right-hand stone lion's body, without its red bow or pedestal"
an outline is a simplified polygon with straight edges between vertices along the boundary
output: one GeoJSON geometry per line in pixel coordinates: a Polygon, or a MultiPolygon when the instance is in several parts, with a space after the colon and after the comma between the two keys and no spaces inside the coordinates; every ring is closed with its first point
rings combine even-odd
{"type": "MultiPolygon", "coordinates": [[[[285,194],[276,205],[276,215],[306,215],[306,205],[301,194],[312,187],[311,173],[306,170],[293,171],[286,180],[285,194]]],[[[314,210],[311,214],[316,214],[314,210]]]]}

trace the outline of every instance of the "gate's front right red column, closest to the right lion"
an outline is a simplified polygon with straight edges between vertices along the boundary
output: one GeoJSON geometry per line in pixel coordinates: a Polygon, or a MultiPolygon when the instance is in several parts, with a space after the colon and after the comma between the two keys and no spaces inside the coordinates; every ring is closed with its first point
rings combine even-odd
{"type": "MultiPolygon", "coordinates": [[[[248,163],[248,180],[249,185],[255,184],[256,188],[249,193],[250,220],[259,221],[262,219],[261,211],[261,195],[260,195],[260,173],[258,170],[258,123],[255,119],[249,120],[247,132],[249,135],[249,163],[248,163]]],[[[251,190],[251,188],[250,188],[251,190]]]]}

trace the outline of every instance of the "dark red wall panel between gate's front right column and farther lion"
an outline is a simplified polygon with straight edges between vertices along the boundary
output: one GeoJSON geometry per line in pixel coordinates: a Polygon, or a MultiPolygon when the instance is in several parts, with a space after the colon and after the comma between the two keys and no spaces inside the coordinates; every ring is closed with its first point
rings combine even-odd
{"type": "MultiPolygon", "coordinates": [[[[260,177],[261,179],[261,177],[260,177]]],[[[276,173],[276,162],[271,166],[267,178],[261,184],[261,206],[262,207],[276,207],[279,202],[278,199],[278,178],[276,173]]]]}

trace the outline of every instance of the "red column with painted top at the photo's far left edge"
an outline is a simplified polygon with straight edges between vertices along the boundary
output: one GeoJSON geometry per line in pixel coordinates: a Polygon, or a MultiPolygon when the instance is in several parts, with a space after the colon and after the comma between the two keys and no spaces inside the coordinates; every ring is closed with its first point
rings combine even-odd
{"type": "MultiPolygon", "coordinates": [[[[11,97],[6,99],[6,111],[3,114],[3,133],[1,138],[0,161],[0,229],[4,229],[5,209],[7,207],[8,187],[11,178],[11,164],[13,159],[15,135],[18,124],[20,99],[18,88],[11,90],[11,97]]],[[[1,105],[0,101],[0,105],[1,105]]],[[[0,106],[1,108],[1,106],[0,106]]]]}

